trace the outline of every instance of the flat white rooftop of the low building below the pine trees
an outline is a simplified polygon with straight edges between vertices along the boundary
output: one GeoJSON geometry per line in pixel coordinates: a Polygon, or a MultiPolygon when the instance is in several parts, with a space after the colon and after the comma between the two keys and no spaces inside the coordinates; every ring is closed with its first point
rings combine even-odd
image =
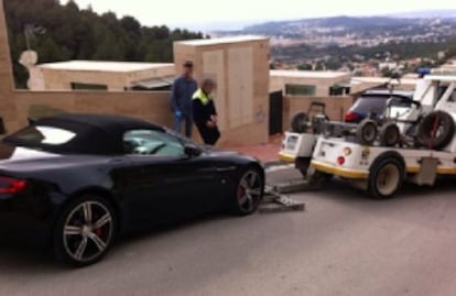
{"type": "Polygon", "coordinates": [[[68,61],[59,63],[47,63],[37,65],[43,69],[55,70],[82,70],[82,72],[141,72],[162,67],[170,67],[173,64],[160,63],[128,63],[128,62],[98,62],[98,61],[68,61]]]}

